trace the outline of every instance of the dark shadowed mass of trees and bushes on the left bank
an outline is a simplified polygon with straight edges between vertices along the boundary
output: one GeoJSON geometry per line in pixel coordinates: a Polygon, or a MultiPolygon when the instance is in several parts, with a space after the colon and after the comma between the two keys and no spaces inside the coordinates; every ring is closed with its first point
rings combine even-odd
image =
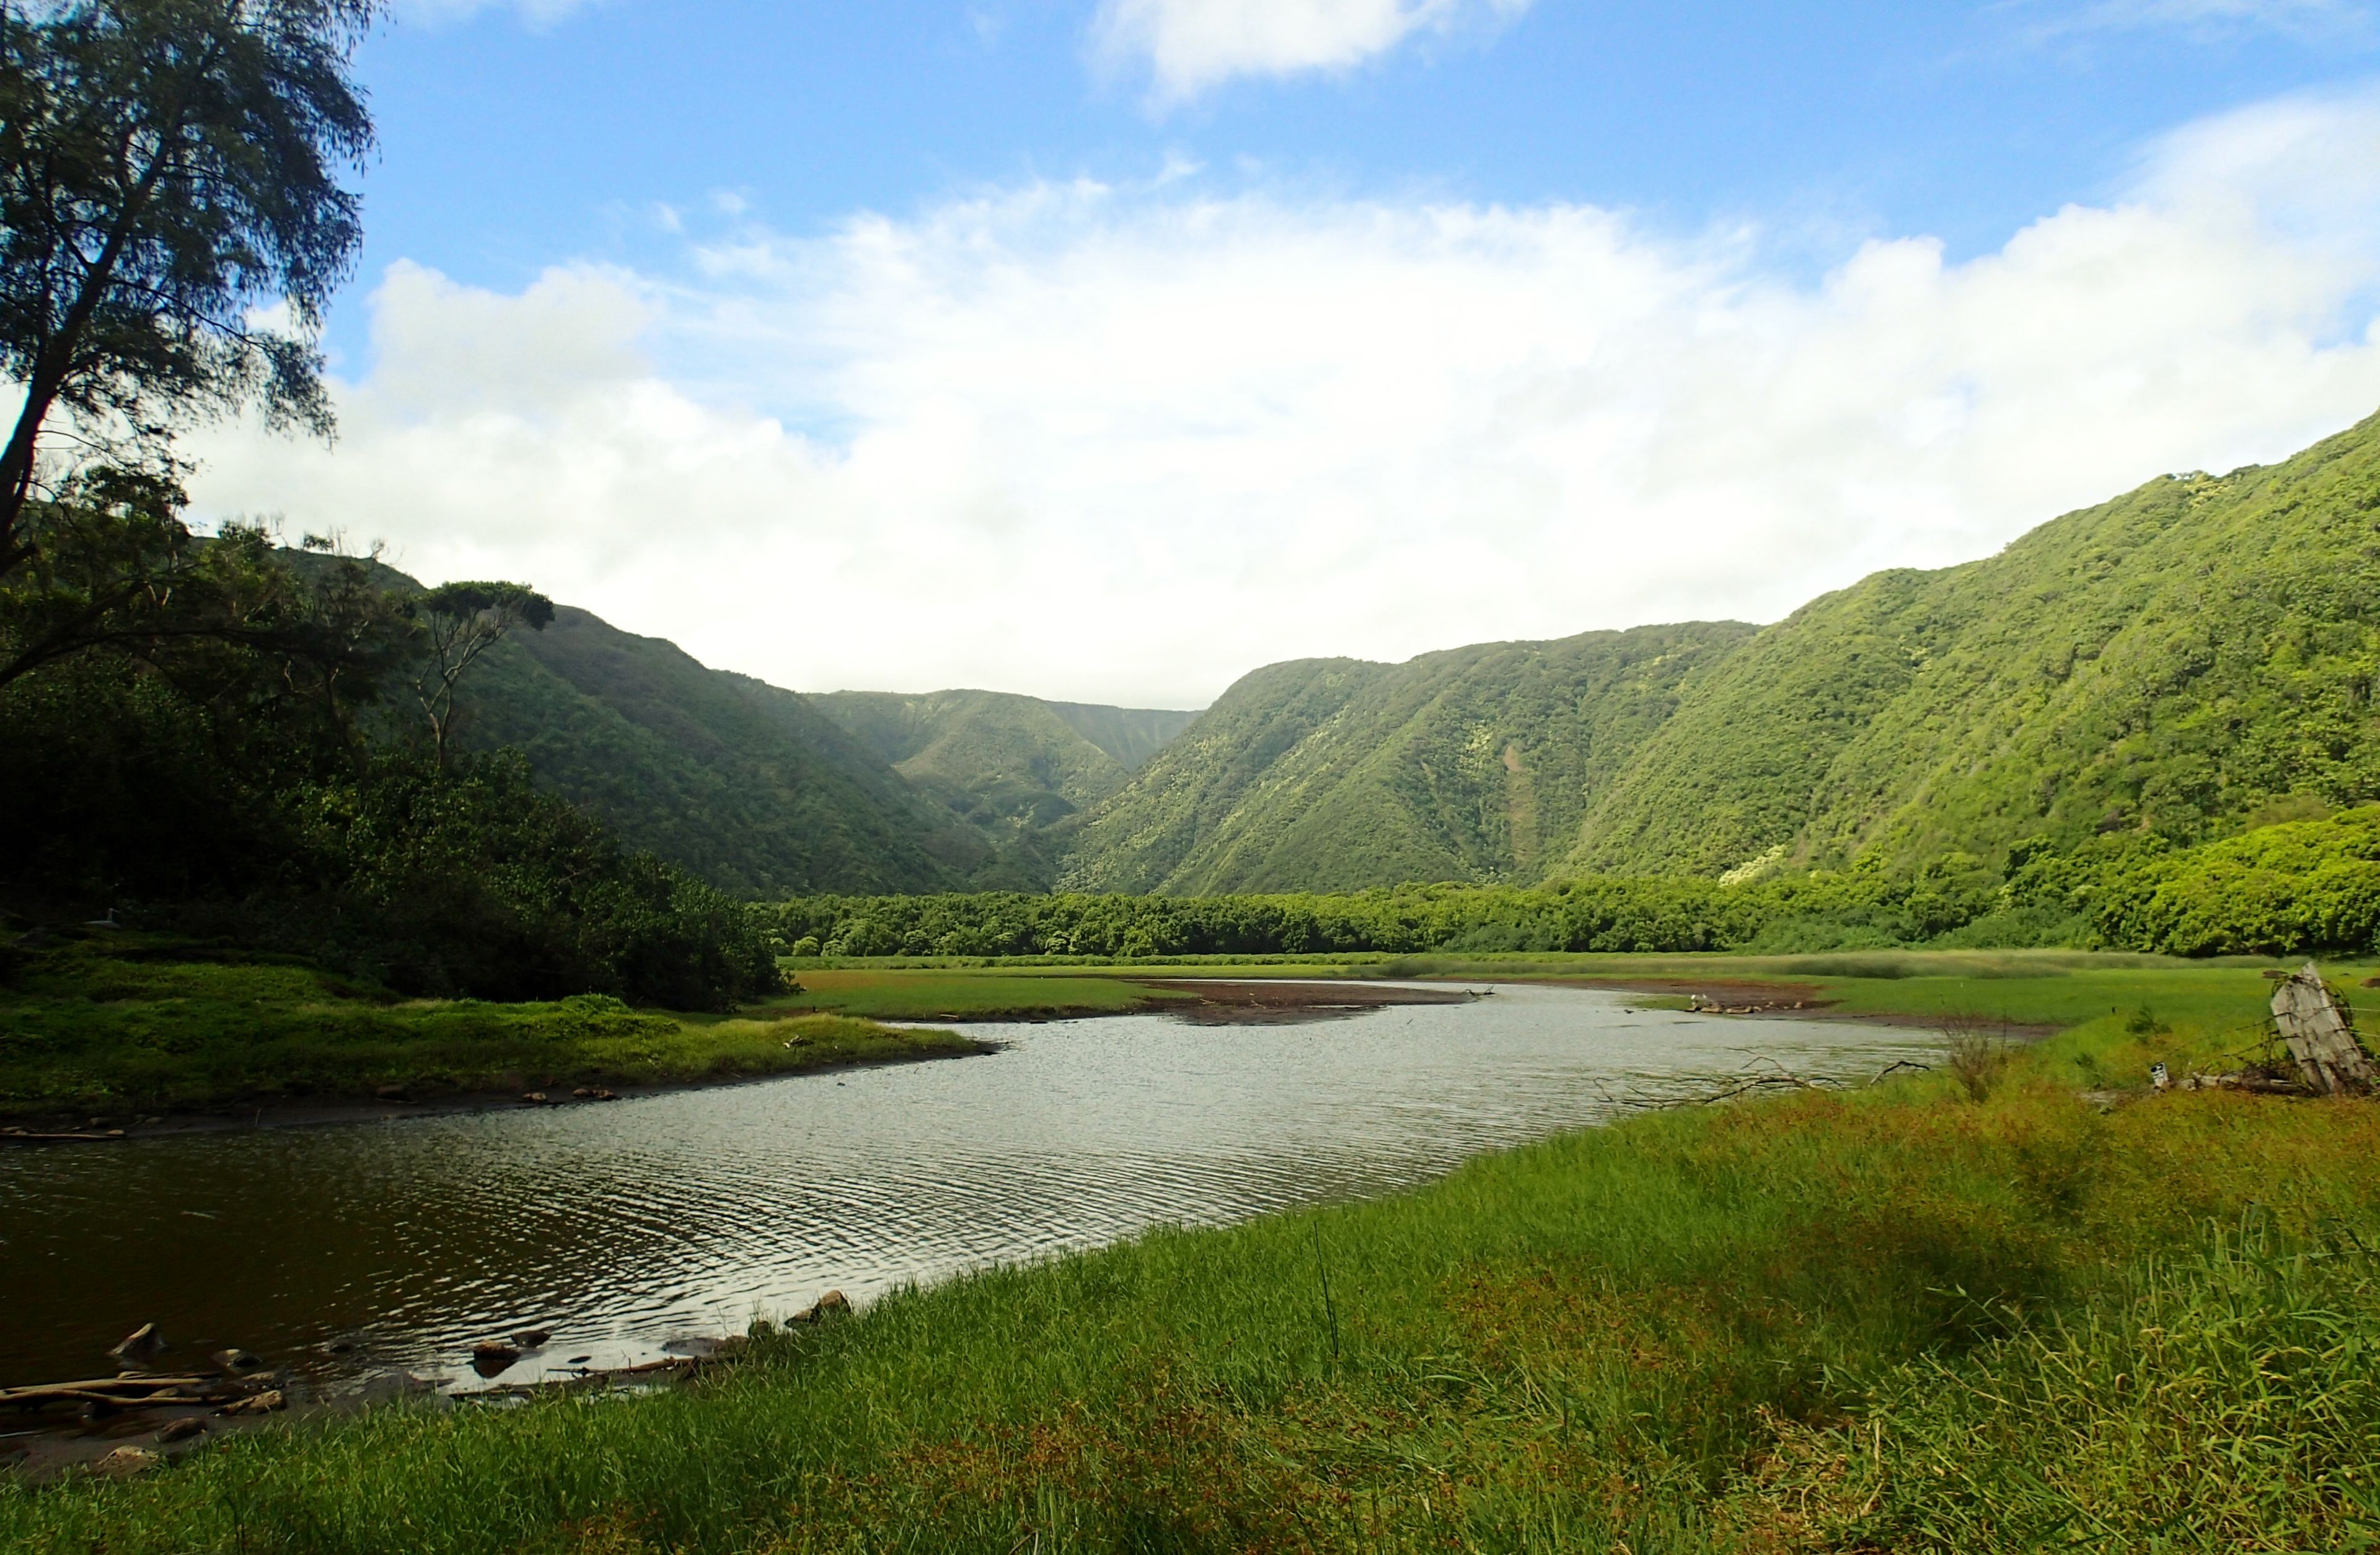
{"type": "Polygon", "coordinates": [[[0,650],[83,622],[0,683],[19,931],[105,912],[433,995],[724,1007],[783,986],[747,903],[624,848],[516,752],[443,748],[464,669],[543,600],[393,591],[257,529],[202,541],[169,495],[36,507],[45,564],[0,586],[0,650]],[[157,586],[109,600],[133,564],[157,586]]]}

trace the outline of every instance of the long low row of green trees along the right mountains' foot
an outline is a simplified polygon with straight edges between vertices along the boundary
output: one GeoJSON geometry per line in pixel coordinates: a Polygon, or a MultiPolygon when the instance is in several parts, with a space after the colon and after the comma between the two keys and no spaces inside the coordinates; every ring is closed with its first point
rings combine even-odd
{"type": "Polygon", "coordinates": [[[2078,945],[2171,955],[2368,950],[2380,943],[2380,805],[2199,848],[2094,838],[1911,874],[1759,881],[1587,876],[1547,886],[1399,886],[1273,895],[804,898],[778,910],[795,955],[1328,955],[1423,950],[1735,950],[2078,945]]]}

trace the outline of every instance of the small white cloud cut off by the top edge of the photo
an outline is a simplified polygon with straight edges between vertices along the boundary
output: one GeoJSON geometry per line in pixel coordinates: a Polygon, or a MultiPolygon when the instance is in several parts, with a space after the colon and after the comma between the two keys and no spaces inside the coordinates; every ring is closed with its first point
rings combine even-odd
{"type": "Polygon", "coordinates": [[[1145,62],[1159,102],[1233,76],[1349,69],[1414,33],[1495,24],[1530,0],[1102,0],[1092,21],[1109,60],[1145,62]]]}

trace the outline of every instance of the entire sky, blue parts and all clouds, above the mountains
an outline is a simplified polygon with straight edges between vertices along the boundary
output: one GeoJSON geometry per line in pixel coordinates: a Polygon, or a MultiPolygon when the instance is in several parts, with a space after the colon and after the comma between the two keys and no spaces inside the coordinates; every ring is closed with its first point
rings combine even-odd
{"type": "Polygon", "coordinates": [[[800,691],[1771,622],[2380,410],[2380,0],[397,0],[202,519],[800,691]]]}

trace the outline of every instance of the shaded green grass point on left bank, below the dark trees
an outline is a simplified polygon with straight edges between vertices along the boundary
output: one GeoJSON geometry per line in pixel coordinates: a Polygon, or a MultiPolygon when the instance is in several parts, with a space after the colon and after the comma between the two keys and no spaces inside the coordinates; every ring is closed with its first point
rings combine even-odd
{"type": "Polygon", "coordinates": [[[0,986],[0,1114],[231,1103],[412,1100],[647,1086],[976,1053],[942,1031],[816,1012],[676,1017],[614,998],[400,1003],[293,960],[81,943],[17,957],[0,986]]]}

